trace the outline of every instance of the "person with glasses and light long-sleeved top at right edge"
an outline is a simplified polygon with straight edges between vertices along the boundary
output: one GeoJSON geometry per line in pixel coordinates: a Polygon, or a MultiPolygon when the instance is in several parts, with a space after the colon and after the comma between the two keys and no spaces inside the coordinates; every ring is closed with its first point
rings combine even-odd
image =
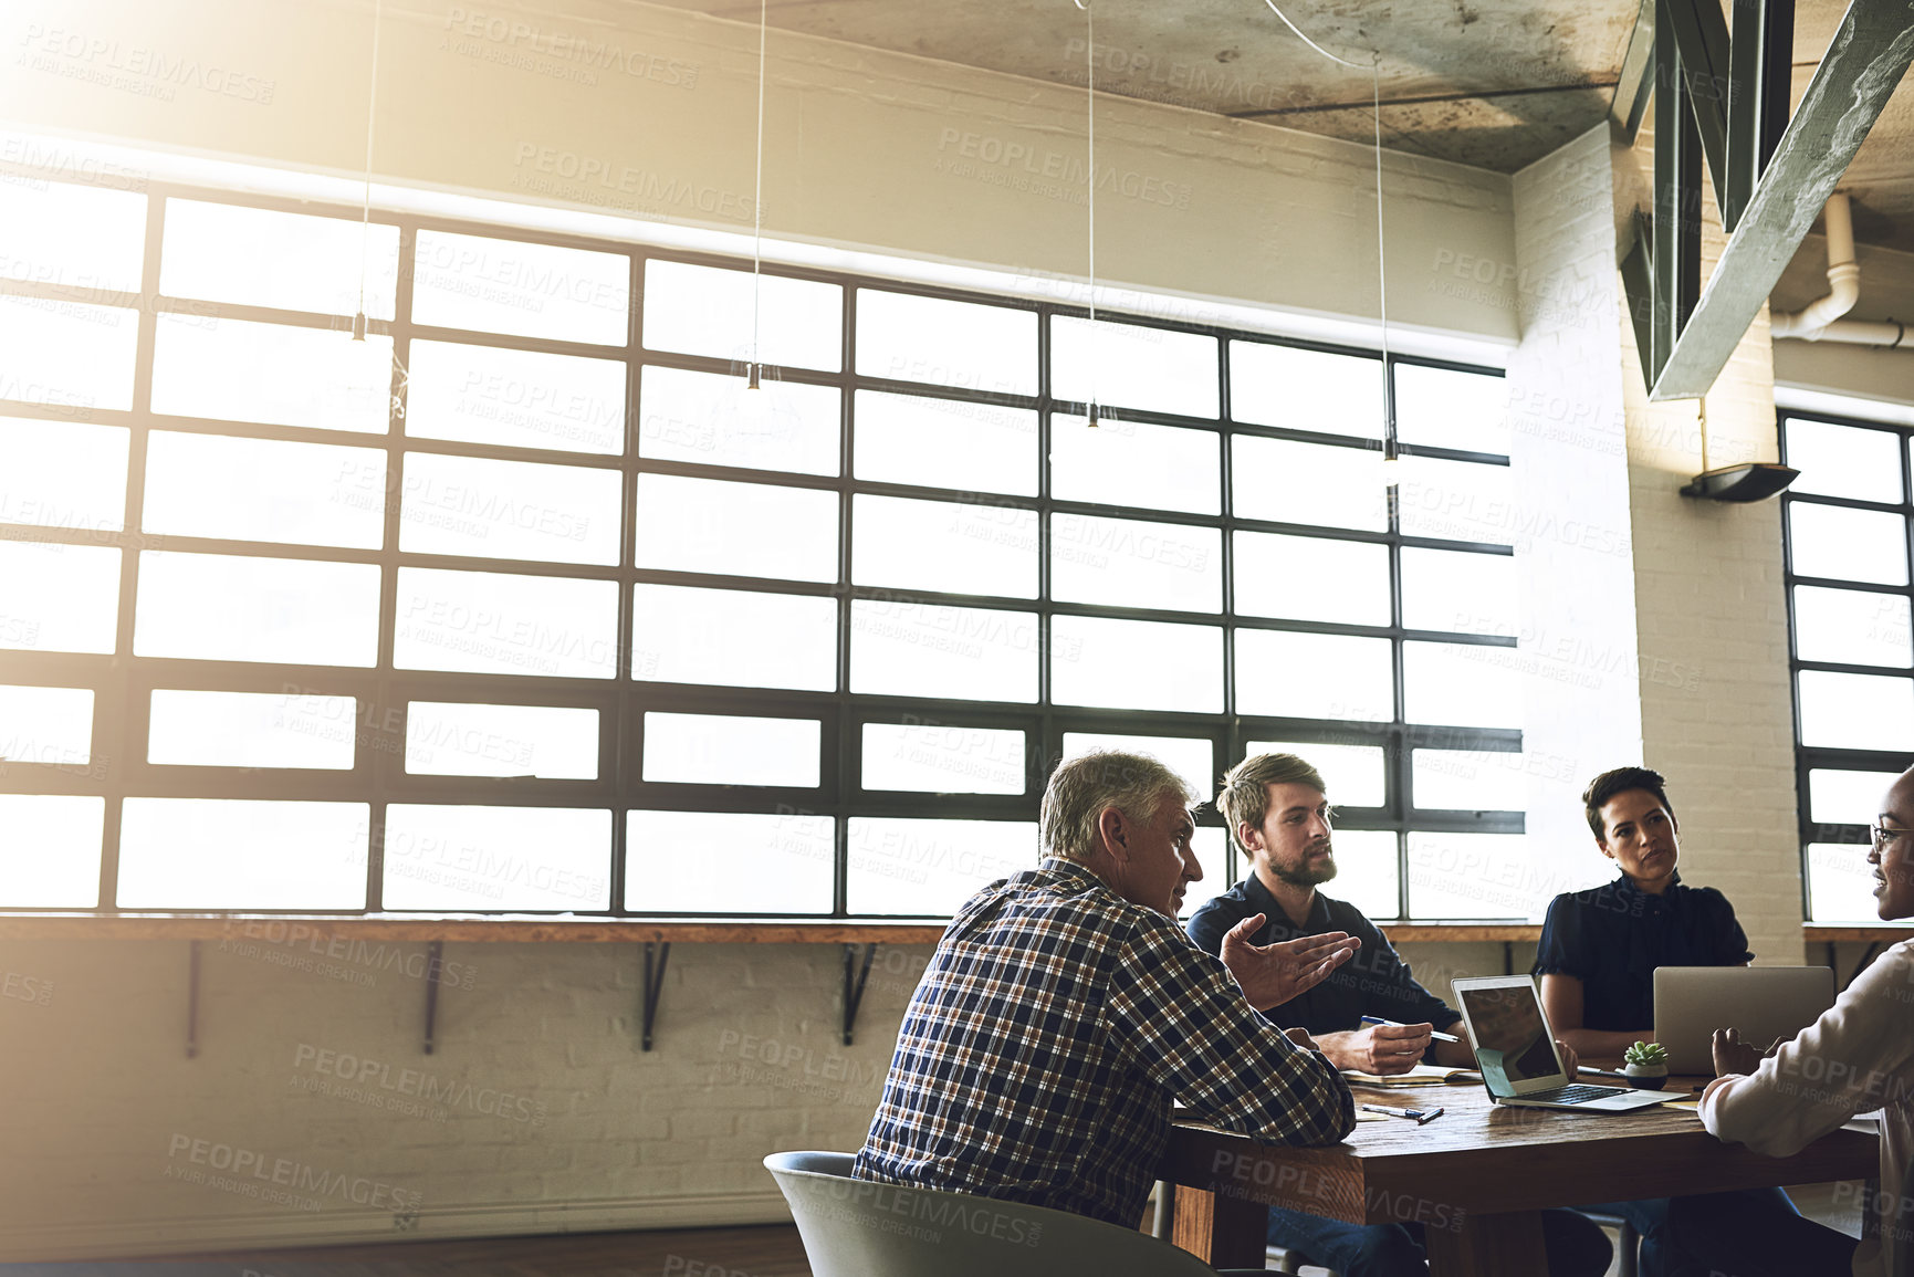
{"type": "MultiPolygon", "coordinates": [[[[1870,831],[1874,902],[1881,921],[1914,917],[1914,768],[1881,798],[1870,831]]],[[[1715,1072],[1702,1093],[1702,1126],[1767,1156],[1799,1153],[1857,1112],[1881,1110],[1881,1187],[1860,1206],[1880,1231],[1851,1248],[1851,1267],[1782,1269],[1761,1246],[1725,1239],[1715,1266],[1734,1277],[1780,1271],[1889,1277],[1914,1266],[1914,940],[1895,944],[1855,976],[1834,1007],[1769,1055],[1728,1028],[1715,1034],[1715,1072]]],[[[1677,1202],[1677,1218],[1682,1204],[1677,1202]]]]}

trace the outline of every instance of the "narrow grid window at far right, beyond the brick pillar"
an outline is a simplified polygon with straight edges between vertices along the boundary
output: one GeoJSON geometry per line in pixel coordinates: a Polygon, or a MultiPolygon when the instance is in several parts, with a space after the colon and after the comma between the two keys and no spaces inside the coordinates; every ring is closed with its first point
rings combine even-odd
{"type": "Polygon", "coordinates": [[[1780,414],[1807,919],[1878,921],[1868,825],[1914,764],[1914,429],[1780,414]]]}

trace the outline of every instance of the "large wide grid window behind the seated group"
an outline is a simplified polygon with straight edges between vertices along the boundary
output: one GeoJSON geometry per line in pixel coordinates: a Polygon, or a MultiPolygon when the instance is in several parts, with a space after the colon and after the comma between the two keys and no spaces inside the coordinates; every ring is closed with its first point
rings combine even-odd
{"type": "MultiPolygon", "coordinates": [[[[1458,873],[1522,854],[1495,371],[205,190],[0,203],[0,907],[934,917],[1118,745],[1206,795],[1305,752],[1340,894],[1522,913],[1458,873]]],[[[1242,871],[1213,812],[1198,848],[1192,907],[1242,871]]]]}

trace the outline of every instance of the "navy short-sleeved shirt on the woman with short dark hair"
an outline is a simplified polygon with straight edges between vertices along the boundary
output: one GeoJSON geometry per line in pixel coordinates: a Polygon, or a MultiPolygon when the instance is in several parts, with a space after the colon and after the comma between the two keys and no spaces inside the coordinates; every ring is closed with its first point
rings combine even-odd
{"type": "Polygon", "coordinates": [[[1734,906],[1713,886],[1682,886],[1677,873],[1652,896],[1621,875],[1548,902],[1533,973],[1581,980],[1583,1028],[1636,1032],[1656,1022],[1656,967],[1740,967],[1749,959],[1734,906]]]}

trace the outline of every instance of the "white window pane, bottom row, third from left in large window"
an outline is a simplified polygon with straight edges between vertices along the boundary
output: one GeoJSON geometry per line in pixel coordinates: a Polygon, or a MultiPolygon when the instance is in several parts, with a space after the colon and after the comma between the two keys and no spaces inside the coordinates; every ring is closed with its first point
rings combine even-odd
{"type": "Polygon", "coordinates": [[[385,810],[387,909],[605,909],[611,812],[423,806],[385,810]]]}

